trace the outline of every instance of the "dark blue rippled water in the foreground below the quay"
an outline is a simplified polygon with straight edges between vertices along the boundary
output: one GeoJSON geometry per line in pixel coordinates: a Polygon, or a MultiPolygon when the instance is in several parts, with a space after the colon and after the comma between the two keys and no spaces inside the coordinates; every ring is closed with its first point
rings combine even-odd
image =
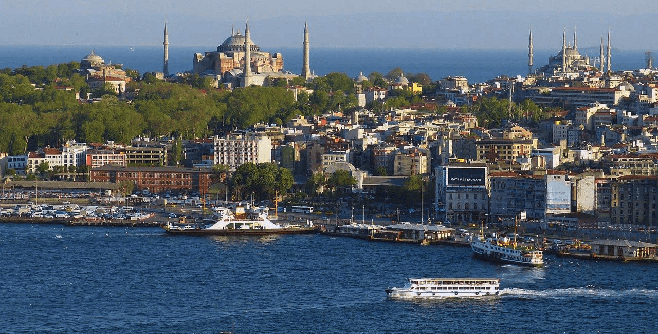
{"type": "Polygon", "coordinates": [[[655,266],[328,236],[0,224],[1,333],[655,333],[655,266]],[[410,277],[498,277],[496,299],[387,299],[410,277]]]}

